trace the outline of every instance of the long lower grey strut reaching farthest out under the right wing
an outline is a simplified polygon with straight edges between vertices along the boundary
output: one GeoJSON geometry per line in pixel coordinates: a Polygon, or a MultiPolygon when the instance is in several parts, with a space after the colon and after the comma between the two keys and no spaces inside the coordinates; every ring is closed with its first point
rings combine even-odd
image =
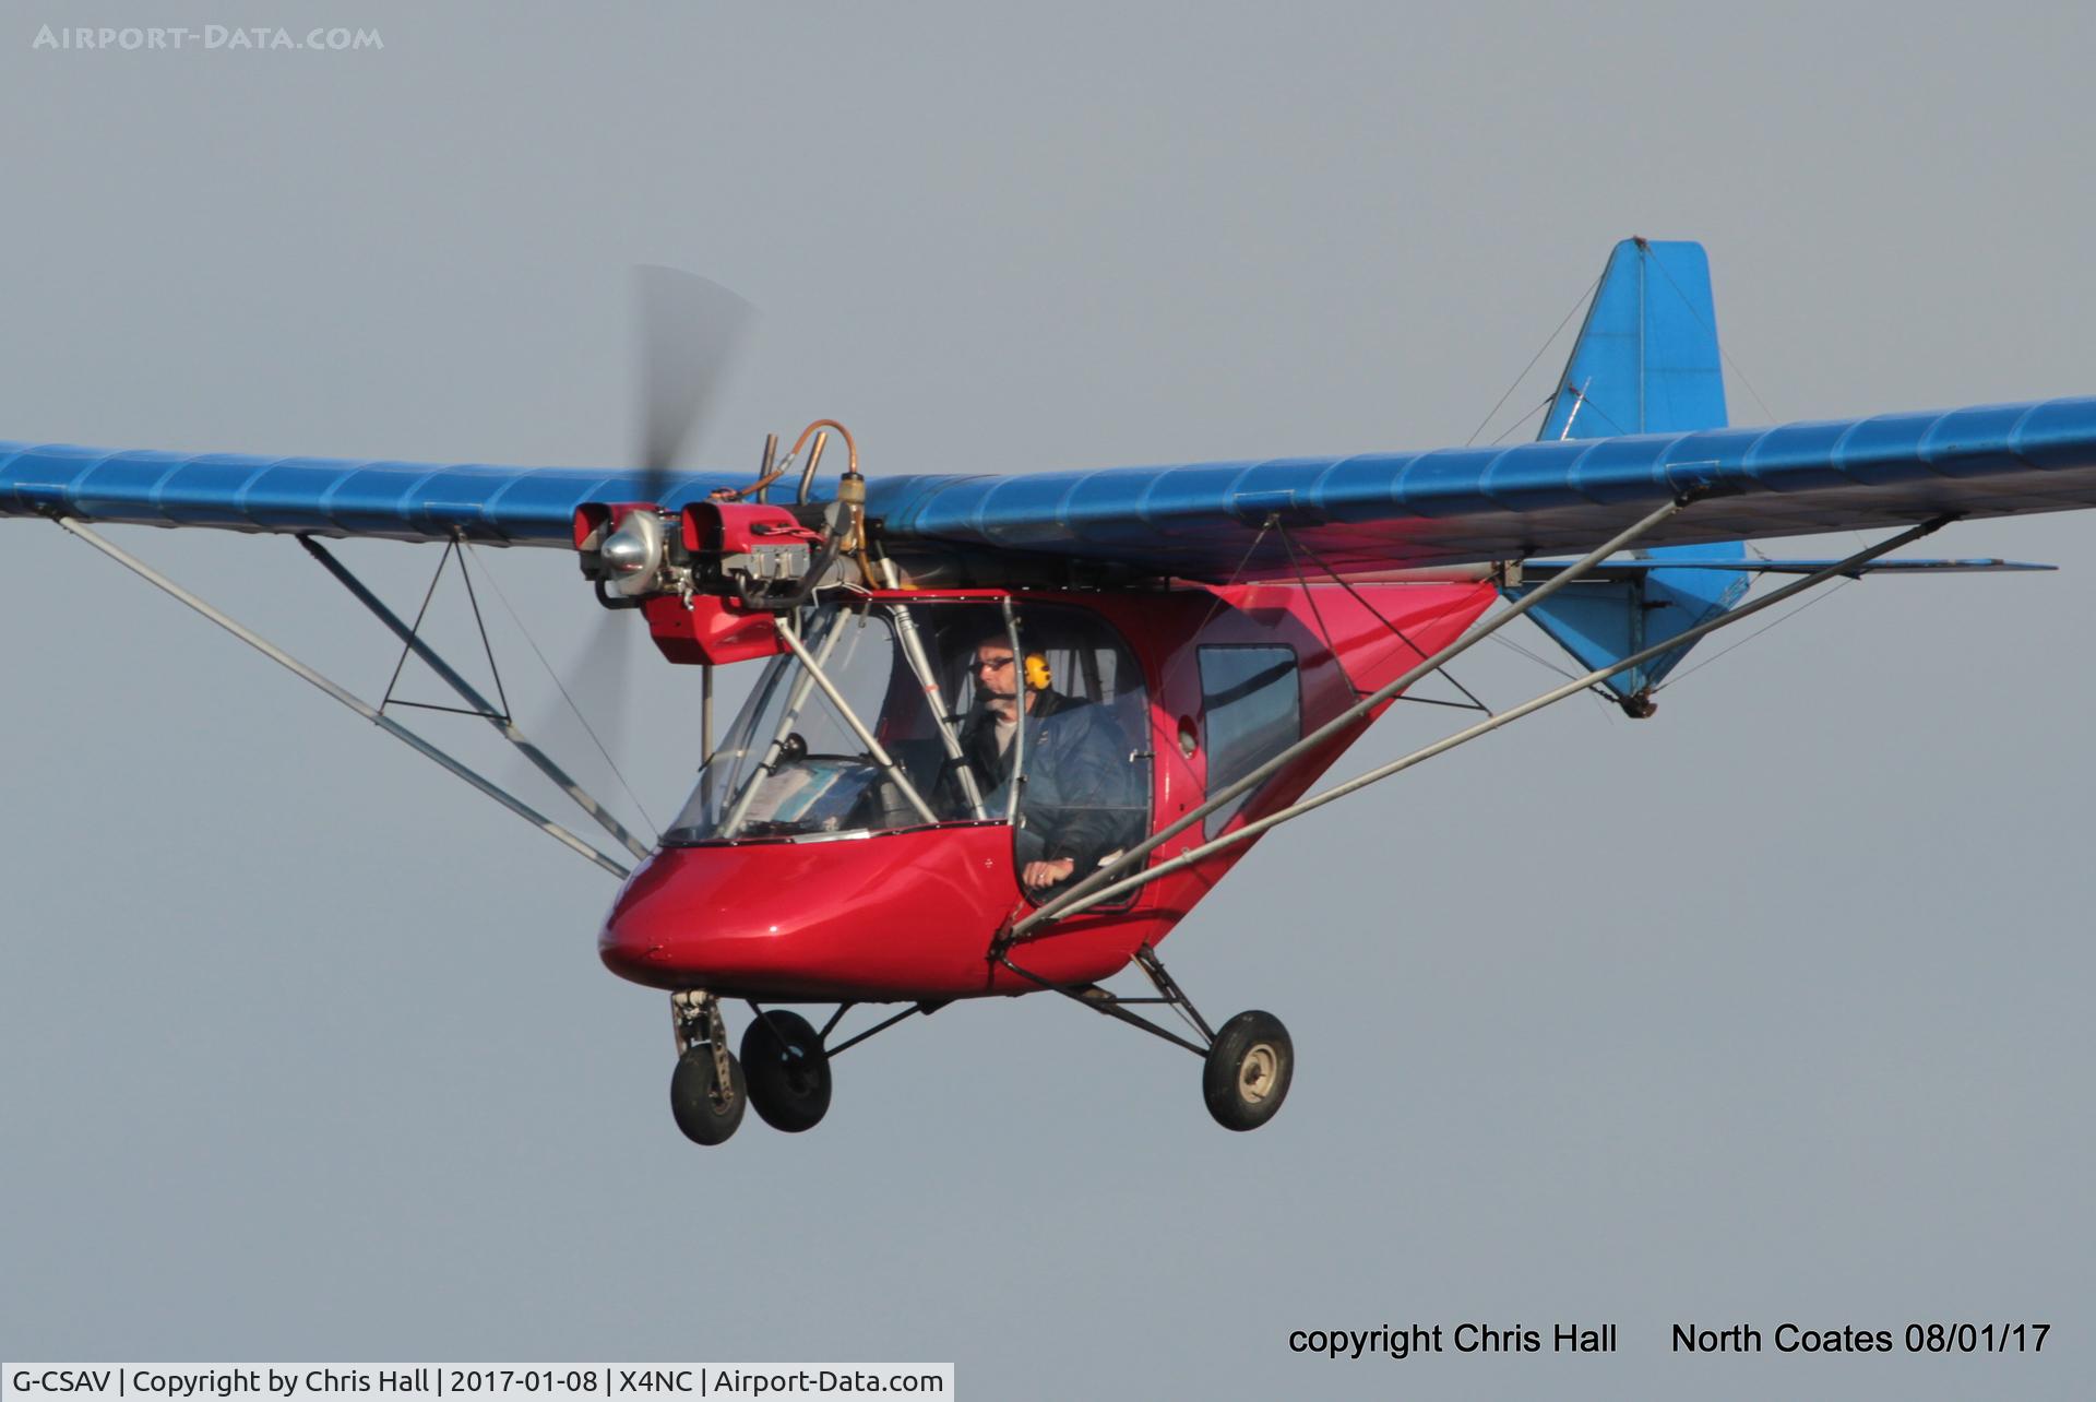
{"type": "MultiPolygon", "coordinates": [[[[1878,555],[1895,551],[1901,545],[1909,545],[1914,541],[1920,541],[1922,536],[1926,536],[1926,534],[1930,534],[1935,530],[1941,530],[1943,526],[1947,526],[1953,520],[1958,520],[1958,518],[1956,516],[1937,516],[1935,520],[1922,522],[1920,526],[1912,526],[1907,530],[1901,530],[1897,536],[1893,536],[1888,541],[1880,541],[1878,545],[1861,549],[1861,551],[1849,555],[1847,560],[1836,560],[1828,568],[1824,568],[1824,570],[1819,570],[1819,572],[1815,572],[1815,574],[1811,574],[1807,578],[1800,578],[1800,580],[1796,580],[1792,585],[1784,585],[1782,589],[1777,589],[1775,593],[1771,593],[1771,595],[1767,595],[1763,599],[1754,599],[1752,604],[1742,604],[1740,608],[1731,610],[1729,614],[1719,614],[1717,618],[1708,618],[1708,620],[1704,620],[1702,625],[1698,625],[1694,629],[1685,629],[1685,631],[1668,637],[1666,641],[1660,641],[1660,643],[1654,643],[1652,648],[1645,648],[1643,652],[1633,652],[1631,656],[1622,658],[1620,662],[1595,669],[1595,671],[1587,673],[1585,677],[1574,677],[1572,681],[1564,683],[1562,687],[1545,692],[1543,696],[1536,696],[1534,700],[1522,702],[1520,706],[1513,706],[1511,710],[1501,710],[1499,715],[1494,715],[1490,719],[1478,721],[1469,729],[1461,729],[1461,731],[1457,731],[1453,736],[1444,736],[1442,740],[1436,740],[1434,744],[1429,744],[1425,748],[1413,750],[1411,754],[1404,754],[1402,759],[1394,759],[1388,765],[1381,765],[1379,769],[1371,769],[1369,773],[1356,775],[1356,777],[1348,780],[1346,784],[1335,784],[1335,786],[1327,788],[1320,794],[1312,794],[1310,798],[1304,798],[1302,803],[1295,803],[1291,807],[1281,809],[1279,813],[1268,813],[1266,817],[1262,817],[1258,822],[1249,822],[1249,824],[1245,824],[1243,828],[1239,828],[1235,832],[1226,832],[1224,836],[1216,838],[1214,842],[1205,842],[1201,847],[1193,847],[1193,849],[1180,853],[1178,857],[1172,857],[1167,861],[1159,861],[1157,866],[1149,868],[1147,872],[1136,872],[1134,876],[1126,876],[1121,880],[1109,880],[1107,884],[1100,884],[1100,886],[1096,886],[1096,889],[1092,889],[1088,893],[1082,893],[1082,895],[1075,889],[1071,889],[1071,893],[1065,899],[1058,899],[1058,901],[1052,901],[1048,905],[1042,905],[1031,916],[1027,916],[1025,920],[1017,922],[1010,928],[1010,933],[1000,939],[998,947],[994,947],[991,954],[998,956],[998,958],[1002,958],[1004,949],[1010,947],[1012,941],[1023,939],[1027,930],[1033,930],[1033,928],[1038,928],[1040,924],[1044,924],[1048,920],[1063,920],[1065,916],[1075,916],[1077,912],[1090,910],[1092,905],[1098,905],[1102,901],[1111,901],[1115,897],[1128,895],[1136,886],[1147,886],[1149,882],[1157,880],[1159,876],[1170,876],[1172,872],[1180,872],[1184,868],[1191,868],[1197,861],[1214,857],[1216,853],[1220,853],[1220,851],[1224,851],[1228,847],[1237,847],[1239,842],[1249,842],[1251,838],[1260,836],[1268,828],[1279,828],[1281,824],[1289,822],[1291,817],[1302,817],[1304,813],[1310,813],[1312,809],[1320,809],[1320,807],[1325,807],[1327,803],[1331,803],[1335,798],[1346,798],[1348,794],[1352,794],[1352,792],[1356,792],[1360,788],[1367,788],[1369,784],[1375,784],[1377,780],[1388,780],[1390,775],[1400,773],[1404,769],[1411,769],[1413,765],[1419,765],[1423,761],[1429,761],[1436,754],[1446,754],[1448,750],[1457,748],[1459,744],[1467,744],[1467,742],[1476,740],[1478,736],[1486,736],[1486,733],[1499,729],[1501,725],[1509,725],[1513,721],[1520,721],[1524,715],[1532,715],[1536,710],[1543,710],[1545,706],[1562,702],[1568,696],[1578,696],[1587,687],[1597,685],[1601,681],[1608,681],[1610,677],[1614,677],[1620,671],[1629,671],[1633,666],[1639,666],[1641,662],[1650,662],[1652,658],[1660,656],[1662,652],[1671,652],[1675,648],[1681,648],[1685,643],[1691,643],[1691,641],[1700,639],[1706,633],[1717,633],[1719,629],[1729,627],[1733,622],[1740,622],[1742,618],[1748,618],[1752,614],[1759,614],[1765,608],[1773,608],[1775,604],[1782,604],[1784,599],[1788,599],[1794,593],[1803,593],[1803,591],[1811,589],[1813,585],[1824,585],[1826,580],[1834,578],[1836,574],[1849,574],[1859,564],[1865,564],[1870,560],[1876,560],[1878,555]]],[[[1585,564],[1587,562],[1580,562],[1580,566],[1585,566],[1585,564]]],[[[1557,578],[1570,578],[1572,574],[1578,574],[1580,566],[1572,566],[1572,570],[1568,570],[1566,574],[1559,574],[1557,578]]],[[[1551,580],[1551,583],[1557,583],[1557,580],[1551,580]]],[[[1530,597],[1534,597],[1534,595],[1530,595],[1530,597]]],[[[1471,637],[1478,637],[1478,635],[1471,635],[1471,637]]],[[[1432,658],[1429,658],[1429,662],[1432,662],[1432,658]]],[[[1308,744],[1308,742],[1295,742],[1295,744],[1291,744],[1274,761],[1268,761],[1268,765],[1264,765],[1262,769],[1279,765],[1287,757],[1300,752],[1304,744],[1308,744]]],[[[1260,771],[1256,769],[1253,773],[1260,773],[1260,771]]],[[[1232,784],[1230,790],[1224,790],[1224,794],[1220,798],[1226,801],[1228,796],[1232,796],[1232,790],[1237,790],[1237,788],[1239,786],[1232,784]]],[[[1203,803],[1203,805],[1195,807],[1191,813],[1186,813],[1186,817],[1180,819],[1180,824],[1199,822],[1207,811],[1211,811],[1216,807],[1218,807],[1218,798],[1209,798],[1207,803],[1203,803]]],[[[1176,826],[1174,828],[1165,828],[1155,838],[1151,838],[1151,842],[1144,845],[1144,847],[1155,847],[1157,842],[1161,842],[1172,832],[1176,832],[1176,826]]],[[[1144,851],[1144,849],[1142,847],[1132,849],[1128,855],[1134,857],[1140,851],[1144,851]]],[[[1119,861],[1115,861],[1115,863],[1111,863],[1111,868],[1100,868],[1100,874],[1105,876],[1105,874],[1109,874],[1109,870],[1126,870],[1126,868],[1119,861]]]]}

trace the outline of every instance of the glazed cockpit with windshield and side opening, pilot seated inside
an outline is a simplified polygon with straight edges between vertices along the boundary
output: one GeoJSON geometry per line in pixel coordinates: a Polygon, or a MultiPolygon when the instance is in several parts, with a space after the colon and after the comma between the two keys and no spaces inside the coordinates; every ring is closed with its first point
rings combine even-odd
{"type": "Polygon", "coordinates": [[[1010,824],[1021,870],[1088,872],[1140,840],[1147,687],[1096,614],[874,599],[782,633],[667,845],[1010,824]]]}

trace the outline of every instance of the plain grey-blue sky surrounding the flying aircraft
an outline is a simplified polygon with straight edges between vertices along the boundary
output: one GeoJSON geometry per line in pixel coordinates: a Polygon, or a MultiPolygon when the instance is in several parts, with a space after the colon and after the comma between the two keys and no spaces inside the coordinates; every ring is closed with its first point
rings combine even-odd
{"type": "MultiPolygon", "coordinates": [[[[4,15],[0,438],[618,463],[627,277],[664,262],[763,310],[696,465],[820,415],[872,474],[1427,448],[1633,233],[1706,243],[1735,421],[2096,392],[2086,6],[4,15]],[[48,52],[42,23],[384,50],[48,52]]],[[[293,543],[111,534],[384,689],[293,543]]],[[[604,874],[59,530],[0,541],[0,1356],[2086,1396],[2086,516],[1933,543],[2058,574],[1844,587],[1652,721],[1574,700],[1266,838],[1163,949],[1211,1021],[1289,1023],[1258,1134],[1191,1056],[1000,1000],[847,1054],[815,1132],[717,1151],[671,1125],[662,995],[597,964],[604,874]],[[1287,1348],[1465,1320],[1622,1348],[1287,1348]],[[2054,1331],[1666,1352],[1786,1320],[2054,1331]]],[[[396,601],[436,562],[342,553],[396,601]]],[[[589,648],[572,564],[482,560],[555,664],[589,648]]],[[[555,717],[495,608],[520,713],[555,717]]],[[[1471,658],[1494,706],[1553,681],[1471,658]]],[[[698,677],[631,677],[616,752],[662,822],[698,677]]]]}

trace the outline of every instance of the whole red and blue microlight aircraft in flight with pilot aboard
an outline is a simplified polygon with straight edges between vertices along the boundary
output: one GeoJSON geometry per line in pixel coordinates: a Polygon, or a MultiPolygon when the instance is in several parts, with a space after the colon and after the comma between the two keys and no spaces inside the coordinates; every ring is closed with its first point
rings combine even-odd
{"type": "MultiPolygon", "coordinates": [[[[732,319],[708,295],[690,316],[732,319]]],[[[1650,717],[1700,639],[1828,580],[2042,568],[1891,553],[1966,518],[2096,505],[2096,398],[1729,428],[1715,325],[1700,245],[1616,245],[1538,438],[1515,446],[868,476],[824,419],[786,455],[769,440],[750,476],[677,469],[677,411],[618,472],[0,444],[0,516],[57,522],[620,876],[599,954],[671,995],[671,1109],[696,1142],[725,1140],[746,1104],[809,1130],[845,1050],[960,998],[1035,991],[1197,1054],[1209,1113],[1253,1130],[1289,1092],[1287,1029],[1211,1025],[1157,947],[1260,834],[1589,689],[1650,717]],[[298,536],[633,866],[90,522],[298,536]],[[1824,560],[1748,549],[1857,528],[1893,534],[1824,560]],[[568,551],[633,614],[620,627],[702,669],[698,782],[660,838],[526,740],[335,536],[444,560],[568,551]],[[1788,583],[1748,597],[1759,574],[1788,583]],[[1455,702],[1478,717],[1312,792],[1396,698],[1515,618],[1582,673],[1499,713],[1455,702]],[[755,683],[715,736],[713,671],[740,664],[755,683]],[[1130,966],[1153,995],[1105,987],[1130,966]],[[740,1056],[729,1002],[750,1008],[740,1056]],[[807,1004],[834,1012],[817,1027],[790,1010],[807,1004]],[[840,1035],[861,1004],[893,1012],[840,1035]]],[[[706,352],[679,373],[715,369],[706,352]]]]}

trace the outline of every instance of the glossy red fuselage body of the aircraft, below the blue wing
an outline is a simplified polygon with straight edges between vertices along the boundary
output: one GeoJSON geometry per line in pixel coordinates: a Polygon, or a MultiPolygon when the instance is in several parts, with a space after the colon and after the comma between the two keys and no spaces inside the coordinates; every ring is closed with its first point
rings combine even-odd
{"type": "MultiPolygon", "coordinates": [[[[1182,587],[1157,593],[1014,593],[1096,614],[1126,639],[1149,696],[1149,830],[1209,792],[1201,648],[1295,654],[1302,733],[1325,725],[1404,669],[1459,637],[1490,604],[1490,583],[1364,585],[1364,608],[1337,587],[1182,587]],[[1402,637],[1400,637],[1402,635],[1402,637]],[[1327,641],[1329,639],[1329,641],[1327,641]]],[[[916,595],[933,599],[933,593],[916,595]]],[[[979,595],[977,595],[979,597],[979,595]]],[[[1151,855],[1163,861],[1300,798],[1367,721],[1270,777],[1228,824],[1191,826],[1151,855]]],[[[1159,878],[1117,910],[1094,907],[1014,949],[1052,983],[1117,972],[1157,945],[1224,872],[1241,842],[1159,878]]],[[[1029,910],[1004,822],[826,838],[752,838],[664,847],[633,872],[599,935],[604,964],[660,989],[711,989],[767,1002],[901,1002],[1025,993],[1000,968],[998,933],[1029,910]]]]}

